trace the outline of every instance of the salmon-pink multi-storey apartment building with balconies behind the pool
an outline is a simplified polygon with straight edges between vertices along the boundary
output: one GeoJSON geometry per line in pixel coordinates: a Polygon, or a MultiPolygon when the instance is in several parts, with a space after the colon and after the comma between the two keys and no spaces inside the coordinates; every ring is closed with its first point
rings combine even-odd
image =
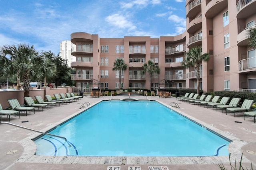
{"type": "Polygon", "coordinates": [[[204,92],[240,90],[256,92],[256,51],[248,46],[246,31],[256,27],[256,0],[186,0],[186,31],[173,37],[100,38],[84,32],[71,34],[71,63],[76,86],[95,80],[102,89],[118,89],[114,61],[124,59],[121,86],[127,88],[196,88],[194,68],[184,68],[184,52],[195,46],[209,53],[200,64],[204,92]],[[160,74],[142,75],[142,65],[152,60],[160,74]]]}

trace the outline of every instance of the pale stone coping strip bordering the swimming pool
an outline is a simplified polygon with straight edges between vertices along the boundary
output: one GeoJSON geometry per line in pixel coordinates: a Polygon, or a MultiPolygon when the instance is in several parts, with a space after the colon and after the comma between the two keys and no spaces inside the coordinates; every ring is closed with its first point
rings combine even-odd
{"type": "MultiPolygon", "coordinates": [[[[54,129],[64,121],[71,119],[72,117],[80,114],[82,111],[93,107],[94,105],[106,100],[99,100],[94,104],[86,107],[85,109],[80,109],[76,113],[69,115],[68,117],[53,123],[52,125],[42,129],[41,131],[47,132],[54,129]]],[[[230,156],[41,156],[36,154],[36,144],[32,139],[38,138],[41,134],[33,133],[29,137],[22,139],[19,143],[23,146],[24,152],[18,158],[17,162],[27,162],[27,163],[53,163],[53,164],[118,164],[118,165],[169,165],[169,164],[225,164],[225,163],[235,163],[241,159],[242,153],[240,151],[241,147],[247,145],[245,141],[240,141],[238,138],[230,135],[224,131],[221,131],[212,125],[208,125],[203,121],[200,121],[186,113],[183,113],[180,109],[175,107],[170,107],[159,100],[156,101],[174,111],[178,112],[180,115],[196,122],[209,129],[210,131],[216,132],[226,139],[230,139],[232,142],[228,145],[228,150],[230,156]]],[[[242,162],[250,162],[246,157],[242,157],[242,162]]]]}

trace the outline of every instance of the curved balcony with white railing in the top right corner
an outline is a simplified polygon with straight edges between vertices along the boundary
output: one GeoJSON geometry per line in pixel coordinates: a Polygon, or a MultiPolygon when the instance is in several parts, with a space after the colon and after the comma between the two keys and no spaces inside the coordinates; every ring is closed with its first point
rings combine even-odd
{"type": "Polygon", "coordinates": [[[248,18],[255,14],[256,0],[238,0],[236,4],[236,18],[243,19],[248,18]]]}

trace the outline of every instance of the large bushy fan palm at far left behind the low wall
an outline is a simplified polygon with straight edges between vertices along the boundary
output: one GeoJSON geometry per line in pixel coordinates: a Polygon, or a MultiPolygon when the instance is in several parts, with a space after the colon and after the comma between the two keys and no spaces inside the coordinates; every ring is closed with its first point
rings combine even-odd
{"type": "Polygon", "coordinates": [[[18,87],[20,87],[21,78],[24,97],[28,97],[30,80],[38,80],[43,76],[41,68],[44,66],[44,58],[40,57],[33,45],[4,45],[0,48],[0,66],[0,75],[16,74],[18,87]]]}

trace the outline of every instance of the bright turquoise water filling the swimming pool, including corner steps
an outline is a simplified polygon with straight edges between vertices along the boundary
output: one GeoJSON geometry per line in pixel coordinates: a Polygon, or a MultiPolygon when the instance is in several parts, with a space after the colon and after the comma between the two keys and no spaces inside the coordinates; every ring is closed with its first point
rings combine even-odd
{"type": "Polygon", "coordinates": [[[68,142],[44,135],[37,155],[228,155],[228,141],[153,101],[103,101],[49,133],[68,142]]]}

